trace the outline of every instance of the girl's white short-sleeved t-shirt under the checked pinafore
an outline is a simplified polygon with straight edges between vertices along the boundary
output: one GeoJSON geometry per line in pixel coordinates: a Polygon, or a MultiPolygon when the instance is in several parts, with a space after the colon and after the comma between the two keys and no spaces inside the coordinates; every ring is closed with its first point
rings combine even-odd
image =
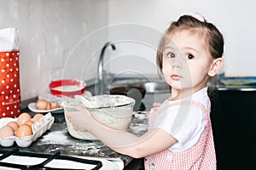
{"type": "Polygon", "coordinates": [[[202,88],[195,94],[181,100],[172,101],[166,99],[166,101],[160,105],[159,111],[162,112],[154,120],[154,127],[165,130],[177,139],[177,143],[169,148],[172,152],[187,150],[196,144],[207,125],[207,119],[203,112],[194,105],[167,106],[183,100],[200,102],[206,107],[208,114],[210,114],[211,110],[211,101],[207,95],[207,88],[202,88]]]}

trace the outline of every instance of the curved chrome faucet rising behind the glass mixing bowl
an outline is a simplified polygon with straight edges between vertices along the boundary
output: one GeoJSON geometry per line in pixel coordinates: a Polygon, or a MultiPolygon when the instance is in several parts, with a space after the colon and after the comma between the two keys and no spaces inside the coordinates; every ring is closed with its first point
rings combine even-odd
{"type": "Polygon", "coordinates": [[[98,62],[98,83],[99,83],[99,94],[102,95],[104,93],[104,79],[103,79],[103,56],[105,50],[108,46],[111,46],[113,50],[115,50],[115,46],[112,42],[107,42],[102,48],[100,59],[98,62]]]}

